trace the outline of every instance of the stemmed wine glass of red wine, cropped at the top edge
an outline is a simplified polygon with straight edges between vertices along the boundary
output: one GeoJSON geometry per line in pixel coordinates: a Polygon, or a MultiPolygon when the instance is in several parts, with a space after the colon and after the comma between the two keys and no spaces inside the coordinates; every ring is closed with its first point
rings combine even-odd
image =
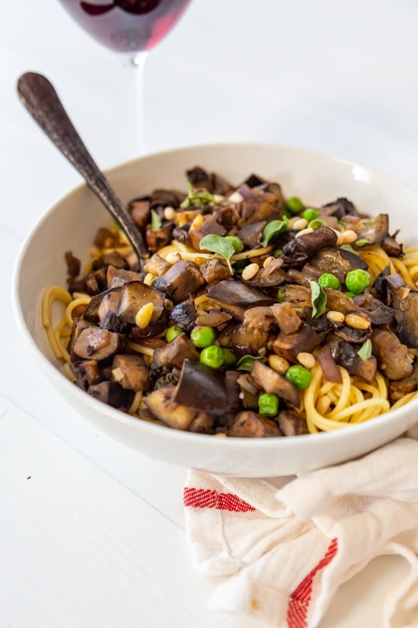
{"type": "Polygon", "coordinates": [[[99,43],[121,54],[136,73],[135,153],[145,153],[144,66],[150,50],[178,22],[192,0],[59,0],[78,24],[99,43]]]}

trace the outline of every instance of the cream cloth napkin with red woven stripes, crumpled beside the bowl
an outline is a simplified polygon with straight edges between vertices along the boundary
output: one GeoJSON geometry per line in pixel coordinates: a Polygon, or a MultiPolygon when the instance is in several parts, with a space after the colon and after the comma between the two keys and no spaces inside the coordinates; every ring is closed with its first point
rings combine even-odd
{"type": "Polygon", "coordinates": [[[194,562],[215,583],[210,611],[242,613],[259,627],[314,628],[342,583],[376,556],[397,554],[410,569],[385,600],[382,627],[418,627],[418,426],[298,477],[191,470],[184,504],[194,562]]]}

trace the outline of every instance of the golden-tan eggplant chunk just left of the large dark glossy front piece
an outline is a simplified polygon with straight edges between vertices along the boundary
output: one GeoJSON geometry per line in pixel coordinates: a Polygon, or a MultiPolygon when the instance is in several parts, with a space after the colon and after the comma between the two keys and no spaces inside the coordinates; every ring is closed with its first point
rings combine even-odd
{"type": "Polygon", "coordinates": [[[144,397],[144,403],[154,417],[176,430],[188,430],[198,414],[187,405],[173,401],[174,387],[154,390],[144,397]]]}

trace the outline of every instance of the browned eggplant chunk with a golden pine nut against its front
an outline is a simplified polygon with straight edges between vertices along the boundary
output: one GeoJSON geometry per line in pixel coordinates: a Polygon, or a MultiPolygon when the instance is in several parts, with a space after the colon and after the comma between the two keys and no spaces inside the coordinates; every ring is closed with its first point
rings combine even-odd
{"type": "Polygon", "coordinates": [[[164,294],[150,285],[141,281],[129,281],[121,287],[121,299],[119,300],[116,315],[121,320],[134,324],[139,308],[152,303],[154,311],[150,323],[154,324],[162,315],[164,299],[164,294]]]}

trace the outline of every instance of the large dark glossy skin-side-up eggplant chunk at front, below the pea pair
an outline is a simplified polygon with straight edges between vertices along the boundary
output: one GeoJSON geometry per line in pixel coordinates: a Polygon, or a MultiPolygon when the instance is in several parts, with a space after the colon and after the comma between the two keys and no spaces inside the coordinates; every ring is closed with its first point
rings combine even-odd
{"type": "Polygon", "coordinates": [[[187,359],[183,362],[173,401],[198,412],[224,414],[227,407],[224,377],[213,368],[187,359]]]}

